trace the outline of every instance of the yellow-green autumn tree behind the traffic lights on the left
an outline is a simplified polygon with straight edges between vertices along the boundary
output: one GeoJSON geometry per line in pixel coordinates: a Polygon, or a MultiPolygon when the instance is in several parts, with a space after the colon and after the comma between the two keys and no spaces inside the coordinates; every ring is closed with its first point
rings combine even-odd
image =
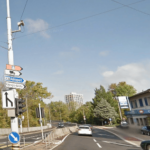
{"type": "MultiPolygon", "coordinates": [[[[35,109],[39,107],[39,103],[45,111],[45,118],[43,118],[43,122],[45,123],[45,121],[48,120],[47,118],[49,114],[49,109],[47,105],[43,102],[43,99],[49,98],[52,95],[50,92],[47,91],[47,87],[43,87],[42,83],[39,82],[35,83],[34,81],[26,81],[26,88],[22,90],[17,90],[17,92],[19,94],[19,98],[27,100],[30,127],[39,126],[39,118],[36,118],[35,111],[35,109]]],[[[23,115],[25,116],[25,120],[23,121],[23,127],[27,127],[27,111],[23,115]]]]}

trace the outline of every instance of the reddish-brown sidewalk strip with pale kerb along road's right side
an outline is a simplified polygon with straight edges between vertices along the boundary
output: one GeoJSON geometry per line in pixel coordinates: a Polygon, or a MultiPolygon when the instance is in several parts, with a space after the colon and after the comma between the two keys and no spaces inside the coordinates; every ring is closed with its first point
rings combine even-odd
{"type": "Polygon", "coordinates": [[[125,142],[135,145],[137,147],[140,147],[141,141],[143,141],[143,139],[132,135],[131,132],[129,134],[129,132],[127,132],[127,130],[121,130],[116,127],[105,127],[105,126],[95,126],[95,127],[106,130],[112,134],[115,134],[116,136],[118,136],[119,138],[124,140],[125,142]]]}

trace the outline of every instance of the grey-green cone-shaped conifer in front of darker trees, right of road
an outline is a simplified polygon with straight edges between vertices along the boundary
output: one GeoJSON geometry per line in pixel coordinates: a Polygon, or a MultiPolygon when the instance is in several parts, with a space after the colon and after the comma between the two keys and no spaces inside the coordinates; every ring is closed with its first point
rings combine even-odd
{"type": "Polygon", "coordinates": [[[111,107],[111,105],[105,99],[102,98],[94,109],[94,116],[102,119],[115,119],[118,117],[118,114],[116,113],[115,109],[111,107]]]}

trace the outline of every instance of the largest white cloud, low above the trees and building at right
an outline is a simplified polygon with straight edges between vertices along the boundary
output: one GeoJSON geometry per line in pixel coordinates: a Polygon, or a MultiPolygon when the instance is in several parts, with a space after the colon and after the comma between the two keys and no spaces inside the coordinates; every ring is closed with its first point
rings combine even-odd
{"type": "Polygon", "coordinates": [[[116,71],[102,73],[101,84],[108,88],[111,83],[125,81],[133,85],[137,91],[150,88],[150,63],[132,63],[118,67],[116,71]]]}

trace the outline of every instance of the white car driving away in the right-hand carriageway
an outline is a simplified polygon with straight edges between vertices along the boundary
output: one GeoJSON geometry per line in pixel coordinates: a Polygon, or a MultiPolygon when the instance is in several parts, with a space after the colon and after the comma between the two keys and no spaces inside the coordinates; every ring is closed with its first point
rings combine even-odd
{"type": "Polygon", "coordinates": [[[78,128],[78,135],[91,135],[92,136],[92,130],[89,126],[79,126],[78,128]]]}

